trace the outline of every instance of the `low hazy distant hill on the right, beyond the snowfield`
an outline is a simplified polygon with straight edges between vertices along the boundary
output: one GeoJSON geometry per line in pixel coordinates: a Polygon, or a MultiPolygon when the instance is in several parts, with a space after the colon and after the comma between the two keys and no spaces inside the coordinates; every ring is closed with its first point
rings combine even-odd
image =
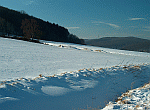
{"type": "Polygon", "coordinates": [[[104,37],[85,40],[86,45],[150,53],[150,40],[137,37],[104,37]]]}

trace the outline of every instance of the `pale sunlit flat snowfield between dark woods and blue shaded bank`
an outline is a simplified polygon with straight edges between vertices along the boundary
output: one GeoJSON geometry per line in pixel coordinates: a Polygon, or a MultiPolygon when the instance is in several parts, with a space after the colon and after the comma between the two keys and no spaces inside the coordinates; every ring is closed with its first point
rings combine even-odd
{"type": "Polygon", "coordinates": [[[0,80],[60,74],[83,68],[150,63],[149,53],[55,42],[50,42],[50,45],[0,38],[0,80]],[[62,44],[63,48],[59,48],[62,44]]]}

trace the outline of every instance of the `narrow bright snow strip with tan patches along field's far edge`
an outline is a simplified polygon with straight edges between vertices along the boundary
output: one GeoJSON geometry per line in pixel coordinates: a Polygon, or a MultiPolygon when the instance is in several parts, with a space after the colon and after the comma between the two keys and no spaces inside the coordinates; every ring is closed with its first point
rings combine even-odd
{"type": "Polygon", "coordinates": [[[84,50],[84,51],[90,51],[90,52],[102,52],[102,53],[119,54],[119,55],[147,56],[147,57],[150,57],[149,53],[143,53],[143,52],[108,49],[108,48],[104,48],[104,47],[93,47],[93,46],[87,46],[87,45],[85,46],[85,45],[79,45],[79,44],[61,43],[61,42],[44,41],[44,40],[40,40],[40,42],[45,44],[45,45],[55,46],[55,47],[59,47],[59,48],[84,50]]]}

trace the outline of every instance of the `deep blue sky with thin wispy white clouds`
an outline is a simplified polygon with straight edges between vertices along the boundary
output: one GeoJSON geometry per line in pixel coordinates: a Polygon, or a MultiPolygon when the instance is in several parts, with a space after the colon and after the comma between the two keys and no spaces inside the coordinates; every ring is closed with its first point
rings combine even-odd
{"type": "Polygon", "coordinates": [[[66,27],[79,38],[150,39],[150,0],[0,0],[0,5],[66,27]]]}

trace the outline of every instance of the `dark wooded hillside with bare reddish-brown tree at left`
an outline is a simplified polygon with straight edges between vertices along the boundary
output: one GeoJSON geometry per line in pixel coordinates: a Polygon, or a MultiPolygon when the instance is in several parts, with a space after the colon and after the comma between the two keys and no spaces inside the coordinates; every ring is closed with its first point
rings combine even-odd
{"type": "Polygon", "coordinates": [[[83,44],[84,40],[55,23],[43,21],[28,15],[25,11],[15,11],[0,6],[0,34],[23,36],[26,39],[42,39],[83,44]]]}

